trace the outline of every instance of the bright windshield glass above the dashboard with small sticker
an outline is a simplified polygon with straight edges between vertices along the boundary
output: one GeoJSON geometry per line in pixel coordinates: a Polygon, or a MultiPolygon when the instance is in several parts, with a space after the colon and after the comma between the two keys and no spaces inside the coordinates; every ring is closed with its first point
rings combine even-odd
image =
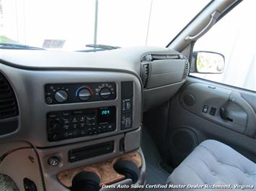
{"type": "Polygon", "coordinates": [[[0,42],[54,50],[162,46],[208,0],[0,0],[0,42]]]}

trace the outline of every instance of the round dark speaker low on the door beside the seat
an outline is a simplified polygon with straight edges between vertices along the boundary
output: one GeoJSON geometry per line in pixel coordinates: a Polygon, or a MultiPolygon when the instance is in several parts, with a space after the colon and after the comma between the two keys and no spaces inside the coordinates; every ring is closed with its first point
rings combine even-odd
{"type": "Polygon", "coordinates": [[[198,138],[193,130],[182,127],[171,132],[168,145],[172,164],[177,167],[198,146],[198,138]]]}

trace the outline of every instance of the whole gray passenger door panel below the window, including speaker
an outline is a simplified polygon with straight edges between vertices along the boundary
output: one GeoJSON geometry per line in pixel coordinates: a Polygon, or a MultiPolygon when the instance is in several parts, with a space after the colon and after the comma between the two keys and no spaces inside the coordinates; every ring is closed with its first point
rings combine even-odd
{"type": "MultiPolygon", "coordinates": [[[[166,144],[161,147],[173,166],[206,139],[221,141],[256,162],[255,111],[256,93],[190,76],[170,101],[169,113],[162,113],[168,116],[169,124],[167,131],[162,129],[166,144]],[[208,106],[205,113],[204,106],[208,106]],[[216,108],[215,113],[210,114],[211,108],[216,108]]],[[[151,116],[159,112],[151,111],[151,116]]]]}

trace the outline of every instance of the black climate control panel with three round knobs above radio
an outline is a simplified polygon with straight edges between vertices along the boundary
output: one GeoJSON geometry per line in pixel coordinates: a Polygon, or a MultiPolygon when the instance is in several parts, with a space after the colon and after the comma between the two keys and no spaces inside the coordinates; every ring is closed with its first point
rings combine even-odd
{"type": "Polygon", "coordinates": [[[81,103],[87,101],[115,100],[115,83],[46,84],[47,104],[81,103]]]}

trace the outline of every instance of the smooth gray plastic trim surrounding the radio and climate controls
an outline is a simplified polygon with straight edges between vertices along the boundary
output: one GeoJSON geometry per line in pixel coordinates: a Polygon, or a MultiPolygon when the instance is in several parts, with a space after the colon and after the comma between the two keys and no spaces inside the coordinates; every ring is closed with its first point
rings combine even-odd
{"type": "Polygon", "coordinates": [[[128,73],[101,72],[101,71],[39,71],[19,70],[14,67],[1,65],[1,71],[9,76],[17,95],[19,106],[19,128],[15,133],[0,136],[1,141],[26,140],[36,147],[56,146],[69,144],[74,141],[87,141],[105,136],[121,134],[132,131],[141,126],[142,93],[141,83],[135,75],[128,73]],[[133,81],[133,126],[131,129],[120,130],[120,83],[133,81]],[[45,103],[44,86],[46,83],[92,83],[115,82],[117,85],[117,98],[113,101],[96,101],[88,103],[67,103],[47,105],[45,103]],[[66,111],[81,108],[97,108],[116,106],[117,130],[94,136],[84,136],[76,139],[66,139],[57,142],[48,142],[46,134],[46,113],[49,111],[66,111]]]}

